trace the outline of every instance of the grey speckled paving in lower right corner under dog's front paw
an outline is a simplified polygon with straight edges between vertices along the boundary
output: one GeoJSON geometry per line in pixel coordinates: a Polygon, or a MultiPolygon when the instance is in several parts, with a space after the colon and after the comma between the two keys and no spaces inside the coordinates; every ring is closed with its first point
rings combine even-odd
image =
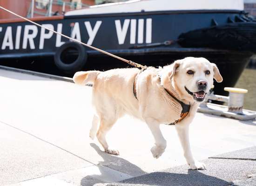
{"type": "Polygon", "coordinates": [[[207,170],[188,170],[186,166],[149,173],[107,186],[256,186],[256,160],[221,157],[256,157],[256,146],[225,153],[220,159],[202,160],[207,170]],[[238,155],[238,156],[236,156],[238,155]]]}

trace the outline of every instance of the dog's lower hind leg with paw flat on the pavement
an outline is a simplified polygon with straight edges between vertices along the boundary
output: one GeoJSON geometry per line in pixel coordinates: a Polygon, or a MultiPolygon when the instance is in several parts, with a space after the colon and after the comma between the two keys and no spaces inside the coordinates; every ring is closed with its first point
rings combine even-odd
{"type": "Polygon", "coordinates": [[[112,128],[112,126],[115,124],[116,119],[104,119],[100,118],[100,127],[97,132],[97,139],[103,146],[104,150],[106,153],[109,154],[119,154],[118,150],[111,149],[108,146],[107,140],[106,140],[106,135],[108,131],[112,128]]]}

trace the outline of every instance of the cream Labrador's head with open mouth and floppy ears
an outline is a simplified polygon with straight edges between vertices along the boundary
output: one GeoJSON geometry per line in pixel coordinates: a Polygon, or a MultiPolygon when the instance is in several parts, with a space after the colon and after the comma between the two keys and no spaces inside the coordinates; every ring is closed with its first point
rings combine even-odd
{"type": "Polygon", "coordinates": [[[168,73],[175,88],[186,100],[201,102],[213,85],[213,79],[222,82],[222,76],[214,63],[205,58],[187,57],[176,60],[168,73]]]}

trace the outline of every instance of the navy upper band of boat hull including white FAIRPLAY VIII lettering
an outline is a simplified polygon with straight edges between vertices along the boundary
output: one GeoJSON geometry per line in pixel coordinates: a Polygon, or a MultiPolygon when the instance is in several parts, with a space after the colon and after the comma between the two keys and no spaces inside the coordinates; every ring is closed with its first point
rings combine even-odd
{"type": "MultiPolygon", "coordinates": [[[[189,10],[76,15],[36,22],[88,45],[104,50],[123,50],[176,41],[182,33],[211,27],[212,19],[224,25],[228,19],[240,15],[243,12],[237,10],[189,10]]],[[[67,41],[67,38],[49,33],[29,22],[2,23],[0,60],[53,55],[67,41]]]]}

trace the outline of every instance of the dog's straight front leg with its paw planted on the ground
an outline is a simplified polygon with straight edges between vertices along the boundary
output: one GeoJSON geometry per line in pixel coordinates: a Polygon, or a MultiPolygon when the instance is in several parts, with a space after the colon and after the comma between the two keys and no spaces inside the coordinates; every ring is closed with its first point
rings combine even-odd
{"type": "Polygon", "coordinates": [[[193,170],[203,170],[206,168],[204,163],[201,163],[199,161],[196,161],[192,155],[190,144],[189,144],[189,123],[178,123],[175,125],[175,128],[177,130],[179,139],[182,144],[182,148],[184,151],[184,157],[187,160],[187,163],[189,164],[190,168],[193,170]]]}

